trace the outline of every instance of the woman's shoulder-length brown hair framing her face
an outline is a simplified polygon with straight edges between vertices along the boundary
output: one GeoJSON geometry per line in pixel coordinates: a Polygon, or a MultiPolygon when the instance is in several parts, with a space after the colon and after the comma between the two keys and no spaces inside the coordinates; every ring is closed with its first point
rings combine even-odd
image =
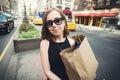
{"type": "Polygon", "coordinates": [[[65,18],[65,27],[64,27],[64,32],[63,32],[63,37],[67,37],[69,35],[69,30],[67,29],[67,20],[66,20],[66,17],[64,15],[64,13],[59,10],[59,9],[56,9],[56,8],[50,8],[48,9],[45,13],[44,13],[44,17],[43,17],[43,27],[42,27],[42,36],[41,38],[42,39],[47,39],[47,40],[51,40],[53,39],[53,35],[50,33],[50,31],[48,30],[48,27],[46,25],[46,21],[47,21],[47,16],[50,12],[52,12],[53,10],[57,11],[60,13],[61,15],[61,18],[65,18]]]}

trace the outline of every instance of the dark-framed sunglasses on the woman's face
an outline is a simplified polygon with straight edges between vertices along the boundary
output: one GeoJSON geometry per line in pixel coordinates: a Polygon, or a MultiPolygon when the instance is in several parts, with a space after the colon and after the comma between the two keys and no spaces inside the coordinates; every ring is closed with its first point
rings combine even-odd
{"type": "Polygon", "coordinates": [[[55,18],[55,20],[48,20],[48,21],[46,22],[47,27],[48,27],[48,28],[52,27],[52,26],[53,26],[53,22],[54,22],[56,25],[61,25],[64,19],[65,19],[65,18],[55,18]]]}

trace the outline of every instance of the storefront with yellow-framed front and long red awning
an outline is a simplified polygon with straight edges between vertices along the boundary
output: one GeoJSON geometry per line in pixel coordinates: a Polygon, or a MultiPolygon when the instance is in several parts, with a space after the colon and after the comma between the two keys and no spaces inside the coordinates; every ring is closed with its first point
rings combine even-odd
{"type": "Polygon", "coordinates": [[[77,24],[84,24],[90,26],[102,26],[103,17],[115,17],[117,12],[80,12],[74,13],[77,24]]]}

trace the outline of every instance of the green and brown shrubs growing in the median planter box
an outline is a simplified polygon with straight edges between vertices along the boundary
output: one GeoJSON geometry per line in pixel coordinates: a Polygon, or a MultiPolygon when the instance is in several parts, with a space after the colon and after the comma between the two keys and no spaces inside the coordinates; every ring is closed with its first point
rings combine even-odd
{"type": "Polygon", "coordinates": [[[30,23],[22,23],[19,29],[18,39],[40,38],[39,31],[30,23]]]}

